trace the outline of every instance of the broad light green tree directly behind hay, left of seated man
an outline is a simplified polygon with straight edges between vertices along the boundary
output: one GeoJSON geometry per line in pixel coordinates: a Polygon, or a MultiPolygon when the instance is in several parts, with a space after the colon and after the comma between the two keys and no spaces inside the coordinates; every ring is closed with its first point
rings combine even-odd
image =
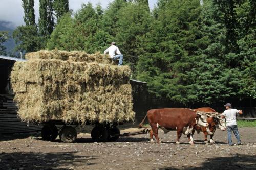
{"type": "Polygon", "coordinates": [[[47,47],[88,53],[103,51],[111,36],[102,29],[102,16],[103,10],[99,5],[95,10],[91,3],[83,4],[74,18],[68,13],[60,19],[47,47]]]}

